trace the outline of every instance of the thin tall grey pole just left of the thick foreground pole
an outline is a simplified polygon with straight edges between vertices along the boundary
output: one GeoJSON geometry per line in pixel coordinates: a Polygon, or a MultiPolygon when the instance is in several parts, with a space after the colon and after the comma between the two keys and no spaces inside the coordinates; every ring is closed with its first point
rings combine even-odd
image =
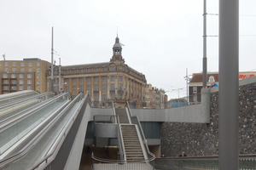
{"type": "Polygon", "coordinates": [[[203,88],[207,88],[207,0],[204,0],[203,16],[203,88]]]}

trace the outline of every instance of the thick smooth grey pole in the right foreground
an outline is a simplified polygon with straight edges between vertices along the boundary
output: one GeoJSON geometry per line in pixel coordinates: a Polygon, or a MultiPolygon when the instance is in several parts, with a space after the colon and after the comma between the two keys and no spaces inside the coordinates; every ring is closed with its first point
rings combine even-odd
{"type": "Polygon", "coordinates": [[[218,167],[238,170],[239,0],[219,0],[218,167]]]}

